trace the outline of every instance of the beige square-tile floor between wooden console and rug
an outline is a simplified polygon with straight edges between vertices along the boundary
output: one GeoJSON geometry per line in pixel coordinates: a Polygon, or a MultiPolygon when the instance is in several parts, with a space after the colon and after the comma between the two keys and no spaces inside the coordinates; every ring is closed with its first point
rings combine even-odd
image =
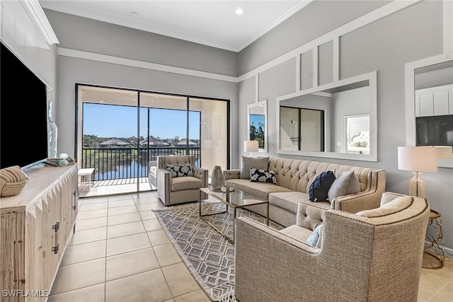
{"type": "MultiPolygon", "coordinates": [[[[151,209],[154,192],[79,201],[48,302],[210,301],[190,275],[151,209]]],[[[453,301],[453,258],[422,269],[418,301],[453,301]]]]}

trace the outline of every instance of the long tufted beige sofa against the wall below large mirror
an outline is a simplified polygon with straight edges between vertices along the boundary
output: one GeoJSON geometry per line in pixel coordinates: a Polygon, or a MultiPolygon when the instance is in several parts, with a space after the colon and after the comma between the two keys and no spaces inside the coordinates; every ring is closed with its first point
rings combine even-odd
{"type": "MultiPolygon", "coordinates": [[[[239,178],[240,169],[224,170],[226,184],[234,184],[239,189],[253,196],[269,200],[269,218],[282,226],[296,224],[297,205],[302,203],[299,215],[305,220],[310,231],[322,222],[321,215],[328,209],[338,209],[356,213],[379,207],[382,192],[385,190],[385,170],[321,163],[288,158],[269,158],[268,170],[277,176],[278,185],[268,182],[251,182],[239,178]],[[309,188],[318,175],[331,170],[338,177],[343,171],[354,171],[359,178],[360,192],[337,197],[331,202],[310,202],[309,188]]],[[[257,204],[247,209],[265,216],[265,204],[257,204]]]]}

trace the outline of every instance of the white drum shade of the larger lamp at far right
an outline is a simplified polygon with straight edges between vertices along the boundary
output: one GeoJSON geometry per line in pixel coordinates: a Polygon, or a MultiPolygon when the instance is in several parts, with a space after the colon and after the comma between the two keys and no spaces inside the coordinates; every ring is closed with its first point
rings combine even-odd
{"type": "Polygon", "coordinates": [[[437,151],[435,148],[398,147],[398,169],[437,172],[437,151]]]}

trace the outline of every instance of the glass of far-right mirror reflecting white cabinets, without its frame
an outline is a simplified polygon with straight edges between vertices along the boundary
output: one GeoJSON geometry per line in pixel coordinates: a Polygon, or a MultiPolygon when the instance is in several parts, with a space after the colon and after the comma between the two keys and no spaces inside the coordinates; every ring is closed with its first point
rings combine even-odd
{"type": "Polygon", "coordinates": [[[416,146],[453,146],[453,61],[415,69],[414,80],[416,146]]]}

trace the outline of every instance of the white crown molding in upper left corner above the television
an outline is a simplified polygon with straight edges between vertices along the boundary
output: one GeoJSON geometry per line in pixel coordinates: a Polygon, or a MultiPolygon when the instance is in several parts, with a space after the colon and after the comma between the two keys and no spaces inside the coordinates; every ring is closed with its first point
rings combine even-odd
{"type": "Polygon", "coordinates": [[[57,35],[55,35],[55,32],[52,29],[47,16],[45,16],[45,13],[42,10],[39,1],[21,0],[18,2],[21,4],[25,13],[28,14],[28,17],[30,17],[31,21],[33,21],[33,24],[38,29],[38,32],[42,35],[42,37],[44,37],[45,41],[49,45],[58,44],[59,41],[57,35]]]}

